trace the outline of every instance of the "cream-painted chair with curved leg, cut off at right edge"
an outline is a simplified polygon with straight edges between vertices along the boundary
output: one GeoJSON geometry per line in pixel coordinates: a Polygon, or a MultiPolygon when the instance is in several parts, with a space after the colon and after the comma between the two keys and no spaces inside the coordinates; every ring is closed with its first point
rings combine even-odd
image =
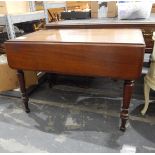
{"type": "Polygon", "coordinates": [[[144,98],[145,105],[141,111],[142,115],[145,115],[149,106],[149,93],[150,89],[155,90],[155,32],[153,33],[152,39],[154,40],[153,53],[151,55],[151,64],[148,73],[144,77],[144,98]]]}

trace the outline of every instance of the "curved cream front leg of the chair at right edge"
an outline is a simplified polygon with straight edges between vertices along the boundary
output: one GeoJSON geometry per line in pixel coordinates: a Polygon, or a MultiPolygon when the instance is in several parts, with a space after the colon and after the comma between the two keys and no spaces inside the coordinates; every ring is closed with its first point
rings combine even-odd
{"type": "Polygon", "coordinates": [[[150,94],[150,87],[144,82],[144,98],[145,98],[145,105],[143,110],[141,111],[142,115],[145,115],[148,106],[149,106],[149,94],[150,94]]]}

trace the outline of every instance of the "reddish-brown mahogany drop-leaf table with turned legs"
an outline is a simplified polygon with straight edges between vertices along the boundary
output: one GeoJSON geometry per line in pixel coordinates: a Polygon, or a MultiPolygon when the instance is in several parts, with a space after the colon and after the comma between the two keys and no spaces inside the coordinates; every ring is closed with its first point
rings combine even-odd
{"type": "Polygon", "coordinates": [[[141,76],[145,43],[139,29],[53,29],[5,43],[8,64],[17,69],[26,112],[23,70],[124,80],[120,129],[125,131],[134,81],[141,76]]]}

